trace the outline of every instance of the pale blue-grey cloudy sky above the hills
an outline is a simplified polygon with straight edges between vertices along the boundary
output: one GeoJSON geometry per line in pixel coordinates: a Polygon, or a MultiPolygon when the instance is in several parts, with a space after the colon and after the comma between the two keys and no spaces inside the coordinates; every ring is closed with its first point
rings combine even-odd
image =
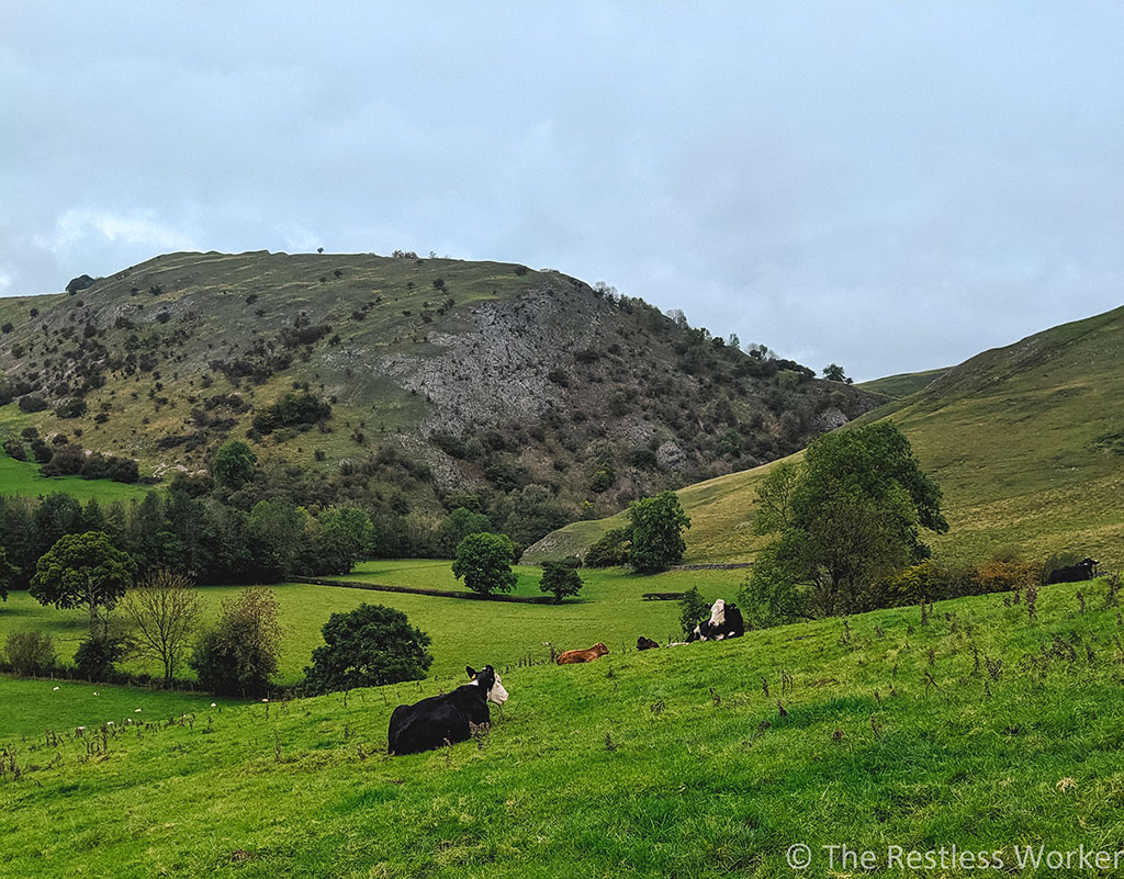
{"type": "Polygon", "coordinates": [[[1124,303],[1124,4],[0,4],[0,296],[552,268],[856,380],[1124,303]]]}

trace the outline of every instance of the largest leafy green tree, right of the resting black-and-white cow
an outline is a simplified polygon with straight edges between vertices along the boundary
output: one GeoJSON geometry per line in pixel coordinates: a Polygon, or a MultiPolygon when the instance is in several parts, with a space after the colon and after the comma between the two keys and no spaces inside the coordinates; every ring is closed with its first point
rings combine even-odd
{"type": "Polygon", "coordinates": [[[803,463],[773,468],[758,505],[754,529],[778,535],[743,598],[762,624],[869,609],[879,583],[930,556],[919,528],[949,529],[940,488],[890,423],[818,437],[803,463]]]}

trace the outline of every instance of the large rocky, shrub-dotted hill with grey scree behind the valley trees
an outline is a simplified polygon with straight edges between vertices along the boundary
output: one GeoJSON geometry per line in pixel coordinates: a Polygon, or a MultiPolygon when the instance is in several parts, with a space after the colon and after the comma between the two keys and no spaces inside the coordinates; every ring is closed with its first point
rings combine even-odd
{"type": "Polygon", "coordinates": [[[876,401],[505,263],[180,253],[51,305],[0,337],[9,436],[64,434],[156,474],[246,437],[398,513],[533,491],[552,516],[604,515],[876,401]]]}

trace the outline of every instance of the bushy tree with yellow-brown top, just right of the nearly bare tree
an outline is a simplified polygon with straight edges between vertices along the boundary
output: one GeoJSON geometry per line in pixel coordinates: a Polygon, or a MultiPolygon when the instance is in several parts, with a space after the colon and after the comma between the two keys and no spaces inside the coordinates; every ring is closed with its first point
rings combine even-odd
{"type": "Polygon", "coordinates": [[[269,589],[243,589],[223,602],[218,625],[207,632],[190,665],[216,696],[260,696],[278,671],[280,605],[269,589]]]}

